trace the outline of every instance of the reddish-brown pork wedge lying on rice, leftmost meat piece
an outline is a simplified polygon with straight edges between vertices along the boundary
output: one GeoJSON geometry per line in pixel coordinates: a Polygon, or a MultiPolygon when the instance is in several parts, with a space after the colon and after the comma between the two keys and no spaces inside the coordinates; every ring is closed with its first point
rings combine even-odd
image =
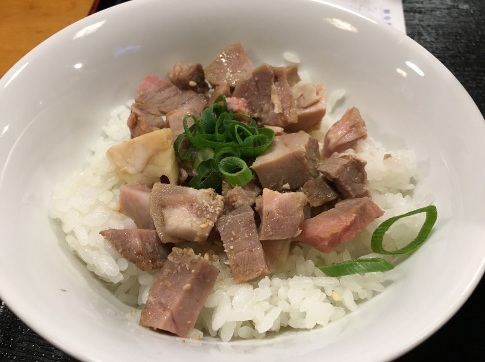
{"type": "Polygon", "coordinates": [[[113,248],[141,270],[162,268],[170,252],[155,230],[109,229],[100,231],[113,248]]]}

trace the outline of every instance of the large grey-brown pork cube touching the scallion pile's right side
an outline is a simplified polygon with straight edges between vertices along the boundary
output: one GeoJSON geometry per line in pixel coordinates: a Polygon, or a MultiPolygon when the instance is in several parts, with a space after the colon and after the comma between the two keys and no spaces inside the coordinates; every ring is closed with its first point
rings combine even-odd
{"type": "Polygon", "coordinates": [[[319,160],[318,142],[300,131],[275,136],[271,148],[256,157],[251,168],[263,188],[298,189],[319,175],[316,169],[319,160]]]}

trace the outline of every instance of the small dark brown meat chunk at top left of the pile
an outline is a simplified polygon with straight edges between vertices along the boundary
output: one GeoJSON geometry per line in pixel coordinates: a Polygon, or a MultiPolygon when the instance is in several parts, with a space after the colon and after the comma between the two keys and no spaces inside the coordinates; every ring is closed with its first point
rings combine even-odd
{"type": "Polygon", "coordinates": [[[204,77],[204,69],[200,63],[174,65],[174,70],[168,73],[168,79],[178,88],[197,93],[209,91],[209,85],[204,77]]]}

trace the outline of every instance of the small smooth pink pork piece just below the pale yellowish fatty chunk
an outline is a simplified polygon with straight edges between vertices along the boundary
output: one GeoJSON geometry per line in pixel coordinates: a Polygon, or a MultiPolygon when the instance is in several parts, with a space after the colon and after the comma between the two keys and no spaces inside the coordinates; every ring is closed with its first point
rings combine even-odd
{"type": "Polygon", "coordinates": [[[148,209],[151,189],[144,185],[121,185],[120,212],[135,221],[140,229],[155,229],[148,209]]]}

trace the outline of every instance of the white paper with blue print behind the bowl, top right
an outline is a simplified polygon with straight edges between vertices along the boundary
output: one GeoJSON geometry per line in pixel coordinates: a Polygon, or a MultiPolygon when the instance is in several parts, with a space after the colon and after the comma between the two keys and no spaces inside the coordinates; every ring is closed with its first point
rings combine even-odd
{"type": "Polygon", "coordinates": [[[330,0],[330,2],[377,17],[406,33],[402,0],[330,0]]]}

